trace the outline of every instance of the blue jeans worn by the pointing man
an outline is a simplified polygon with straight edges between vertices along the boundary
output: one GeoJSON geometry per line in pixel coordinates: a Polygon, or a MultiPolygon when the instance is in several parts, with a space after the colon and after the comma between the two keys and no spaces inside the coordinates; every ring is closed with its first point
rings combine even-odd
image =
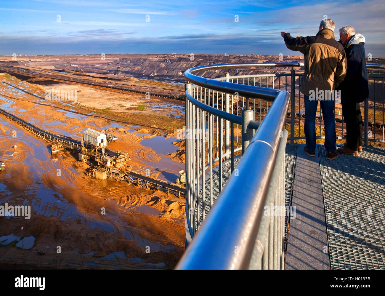
{"type": "MultiPolygon", "coordinates": [[[[336,151],[336,123],[334,118],[334,101],[320,101],[323,121],[325,124],[325,149],[336,151]]],[[[305,138],[310,153],[315,152],[315,116],[318,100],[311,101],[305,96],[305,138]]]]}

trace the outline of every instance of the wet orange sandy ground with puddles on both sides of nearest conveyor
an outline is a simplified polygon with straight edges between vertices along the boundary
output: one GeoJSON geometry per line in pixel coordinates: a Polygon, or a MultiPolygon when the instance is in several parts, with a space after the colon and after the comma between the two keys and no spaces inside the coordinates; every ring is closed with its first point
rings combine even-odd
{"type": "MultiPolygon", "coordinates": [[[[80,139],[85,128],[112,132],[119,140],[109,149],[128,153],[136,172],[150,172],[150,177],[169,183],[179,177],[177,172],[184,165],[166,157],[177,150],[172,145],[176,139],[166,138],[164,131],[109,121],[85,113],[79,104],[44,101],[37,98],[43,90],[41,86],[2,75],[0,108],[72,138],[80,139]]],[[[99,94],[99,98],[113,100],[108,95],[99,94]]],[[[0,204],[31,205],[33,209],[30,220],[0,217],[0,237],[35,237],[28,250],[15,247],[16,242],[1,246],[0,264],[28,267],[32,263],[32,268],[175,266],[184,250],[184,198],[125,182],[89,178],[76,155],[62,150],[52,159],[48,143],[3,117],[0,143],[0,158],[7,163],[0,175],[0,204]],[[17,153],[12,155],[13,145],[17,145],[17,153]],[[105,215],[101,214],[102,208],[105,215]],[[60,254],[56,252],[57,246],[61,247],[60,254]]]]}

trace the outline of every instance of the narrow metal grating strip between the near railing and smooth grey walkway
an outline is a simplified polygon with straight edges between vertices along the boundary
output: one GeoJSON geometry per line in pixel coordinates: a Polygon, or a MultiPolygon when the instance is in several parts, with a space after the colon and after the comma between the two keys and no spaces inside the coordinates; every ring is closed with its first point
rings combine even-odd
{"type": "MultiPolygon", "coordinates": [[[[297,160],[297,149],[298,146],[289,146],[286,145],[286,155],[285,155],[285,205],[291,205],[291,200],[293,197],[293,182],[295,175],[295,164],[297,160]]],[[[285,216],[285,250],[286,250],[286,241],[287,241],[287,232],[288,232],[288,219],[290,216],[285,216]]]]}

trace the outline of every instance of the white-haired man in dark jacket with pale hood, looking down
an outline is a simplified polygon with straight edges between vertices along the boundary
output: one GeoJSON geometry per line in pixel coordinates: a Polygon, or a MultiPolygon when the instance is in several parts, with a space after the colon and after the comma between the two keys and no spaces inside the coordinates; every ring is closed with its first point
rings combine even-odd
{"type": "Polygon", "coordinates": [[[341,154],[358,155],[362,151],[360,103],[369,96],[364,42],[365,37],[355,34],[353,27],[340,29],[340,43],[344,45],[348,62],[348,72],[338,87],[341,90],[342,114],[346,123],[346,144],[344,148],[338,148],[341,154]]]}

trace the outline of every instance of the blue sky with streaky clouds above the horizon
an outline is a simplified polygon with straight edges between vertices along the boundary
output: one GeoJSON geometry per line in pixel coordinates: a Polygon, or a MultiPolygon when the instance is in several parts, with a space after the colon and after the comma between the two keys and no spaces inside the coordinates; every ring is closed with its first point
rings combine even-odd
{"type": "Polygon", "coordinates": [[[0,55],[270,54],[281,31],[315,35],[334,20],[363,34],[365,50],[385,57],[385,1],[0,1],[0,55]]]}

